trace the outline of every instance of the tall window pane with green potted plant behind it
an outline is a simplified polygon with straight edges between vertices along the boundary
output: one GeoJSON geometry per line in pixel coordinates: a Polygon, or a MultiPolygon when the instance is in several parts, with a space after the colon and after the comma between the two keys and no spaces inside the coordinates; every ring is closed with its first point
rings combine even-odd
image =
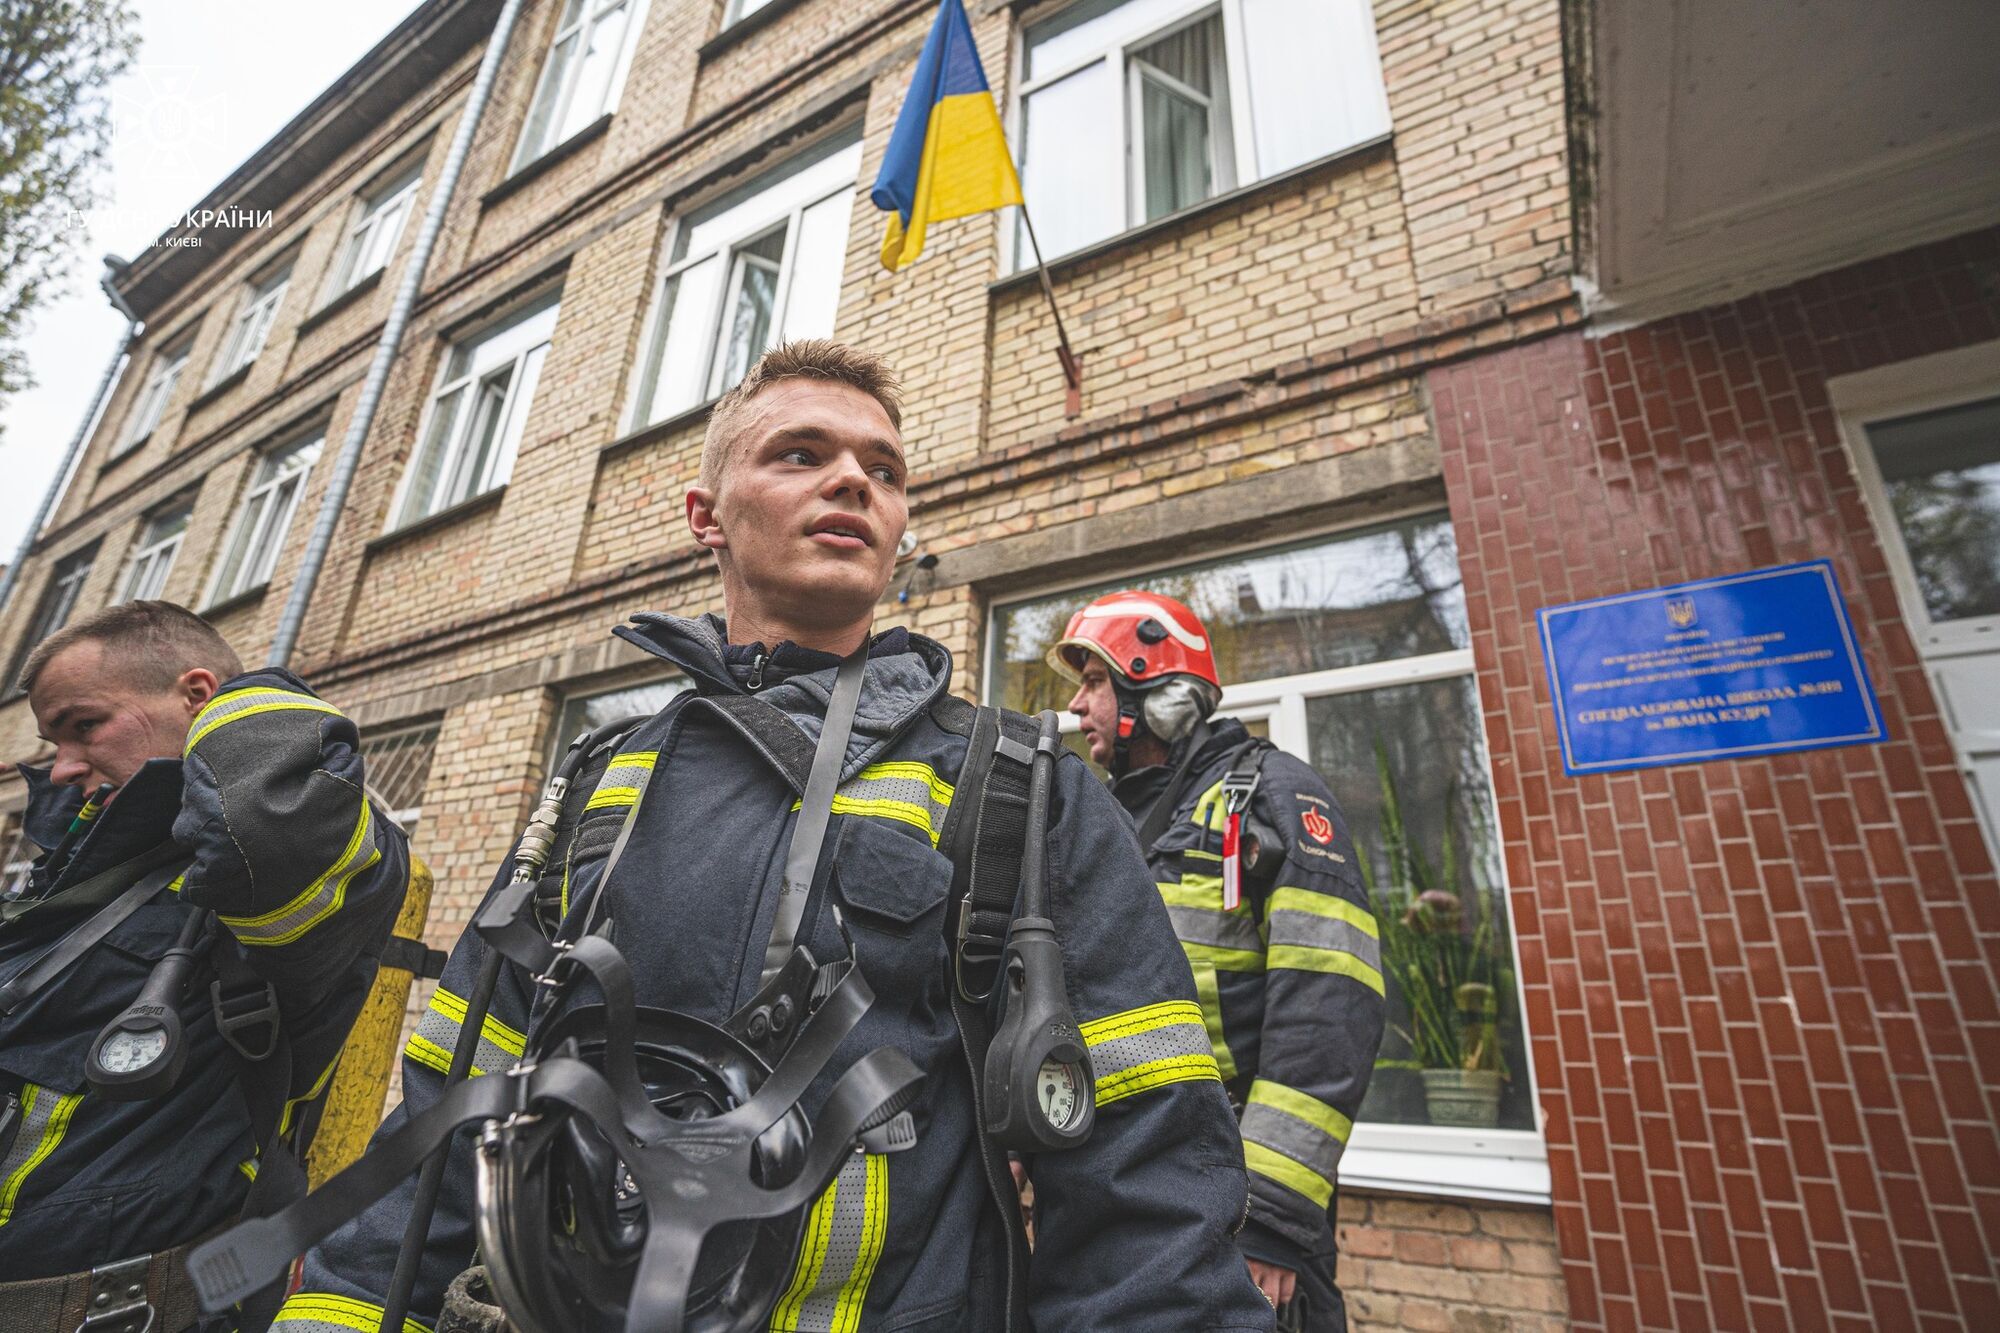
{"type": "Polygon", "coordinates": [[[1382,939],[1388,1033],[1364,1121],[1460,1125],[1434,1083],[1500,1075],[1494,1125],[1534,1129],[1500,845],[1470,677],[1306,703],[1382,939]],[[1426,1077],[1424,1071],[1440,1071],[1426,1077]]]}

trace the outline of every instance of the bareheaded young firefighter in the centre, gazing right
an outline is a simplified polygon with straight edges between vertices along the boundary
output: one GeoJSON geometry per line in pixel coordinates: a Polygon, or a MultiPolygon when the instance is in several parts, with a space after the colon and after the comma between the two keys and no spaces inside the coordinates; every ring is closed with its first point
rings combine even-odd
{"type": "MultiPolygon", "coordinates": [[[[768,352],[716,404],[686,510],[694,538],[716,552],[724,614],[640,614],[618,630],[694,687],[642,723],[596,783],[570,843],[594,851],[560,867],[564,923],[588,917],[604,895],[598,907],[638,1005],[710,1023],[744,1005],[780,919],[800,799],[732,721],[742,709],[692,701],[764,701],[802,743],[816,743],[842,660],[866,650],[828,853],[796,939],[816,959],[838,959],[844,929],[876,1003],[802,1105],[816,1117],[828,1079],[892,1045],[924,1075],[916,1141],[848,1159],[814,1205],[796,1263],[774,1275],[768,1327],[1002,1329],[1012,1309],[1014,1327],[1270,1329],[1270,1305],[1232,1241],[1246,1193],[1242,1147],[1192,979],[1122,811],[1080,763],[1058,765],[1048,885],[1096,1071],[1096,1129],[1080,1147],[1036,1157],[1036,1249],[1008,1291],[1018,1217],[1012,1197],[1006,1207],[996,1197],[994,1175],[1004,1173],[982,1157],[950,1007],[944,923],[956,903],[936,841],[968,753],[936,721],[950,654],[870,624],[908,518],[898,430],[888,368],[832,342],[768,352]],[[642,771],[650,777],[638,783],[642,771]],[[608,883],[610,839],[592,821],[628,831],[608,883]]],[[[406,1101],[384,1135],[436,1103],[482,957],[468,933],[406,1051],[406,1101]]],[[[552,1015],[532,1011],[534,991],[508,963],[476,1069],[504,1071],[546,1031],[552,1015]]],[[[472,1159],[460,1135],[410,1303],[418,1321],[436,1315],[446,1285],[472,1263],[472,1159]]],[[[308,1255],[282,1333],[374,1327],[414,1195],[406,1181],[308,1255]]]]}

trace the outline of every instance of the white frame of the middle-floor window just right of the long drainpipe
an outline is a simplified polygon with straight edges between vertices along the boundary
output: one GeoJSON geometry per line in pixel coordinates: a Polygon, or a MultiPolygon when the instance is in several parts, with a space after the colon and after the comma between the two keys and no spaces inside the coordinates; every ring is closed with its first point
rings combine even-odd
{"type": "Polygon", "coordinates": [[[492,490],[498,490],[514,474],[514,454],[520,448],[522,432],[528,428],[528,412],[534,408],[534,390],[542,378],[542,364],[548,358],[548,348],[554,340],[556,318],[562,312],[562,290],[552,288],[520,302],[510,314],[488,322],[480,332],[464,334],[452,338],[444,348],[444,356],[438,358],[438,374],[430,388],[430,398],[424,402],[424,416],[416,428],[416,446],[410,450],[410,462],[402,470],[402,480],[396,484],[394,502],[388,508],[388,522],[384,532],[396,532],[414,522],[422,522],[432,514],[442,514],[448,508],[466,504],[480,498],[492,490]],[[452,358],[460,348],[470,346],[472,354],[466,358],[466,368],[454,376],[452,358]],[[440,404],[456,392],[466,394],[466,406],[458,412],[452,422],[452,434],[442,442],[444,460],[438,464],[436,486],[442,486],[458,470],[464,460],[464,452],[472,442],[474,428],[480,422],[480,388],[492,380],[498,372],[508,372],[506,396],[502,398],[498,412],[500,424],[496,426],[496,448],[492,456],[486,458],[480,474],[472,478],[472,488],[466,494],[438,502],[438,492],[434,490],[426,496],[426,508],[422,512],[404,512],[410,504],[410,490],[416,484],[418,464],[424,460],[424,450],[430,448],[432,420],[438,414],[440,404]]]}

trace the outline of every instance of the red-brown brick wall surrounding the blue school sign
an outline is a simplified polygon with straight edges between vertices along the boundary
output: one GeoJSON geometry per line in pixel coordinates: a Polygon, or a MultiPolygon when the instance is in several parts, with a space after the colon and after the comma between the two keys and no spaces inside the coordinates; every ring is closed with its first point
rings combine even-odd
{"type": "Polygon", "coordinates": [[[2000,1327],[2000,887],[1826,378],[2000,230],[1432,372],[1580,1327],[2000,1327]],[[1536,606],[1832,558],[1890,741],[1570,779],[1536,606]]]}

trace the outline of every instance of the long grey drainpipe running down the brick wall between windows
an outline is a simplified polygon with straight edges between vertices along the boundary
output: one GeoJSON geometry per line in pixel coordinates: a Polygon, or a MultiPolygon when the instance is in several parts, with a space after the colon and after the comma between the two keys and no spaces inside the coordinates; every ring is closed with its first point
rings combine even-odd
{"type": "Polygon", "coordinates": [[[270,642],[272,666],[288,666],[292,648],[298,646],[298,630],[306,620],[306,606],[312,602],[312,588],[320,580],[326,552],[334,544],[334,526],[340,522],[340,510],[348,502],[348,486],[354,484],[354,470],[362,460],[368,426],[374,424],[376,406],[382,402],[382,386],[388,382],[390,362],[396,360],[396,346],[402,342],[404,324],[410,322],[410,310],[416,306],[416,290],[424,282],[424,268],[430,264],[438,232],[444,230],[444,212],[452,204],[458,172],[466,164],[466,150],[472,146],[472,134],[478,130],[480,116],[486,112],[486,102],[492,96],[508,38],[514,36],[514,20],[520,16],[520,4],[522,0],[506,0],[500,8],[500,18],[494,22],[494,32],[486,40],[480,72],[472,80],[472,96],[466,98],[458,130],[452,132],[452,148],[444,154],[444,172],[438,176],[438,188],[430,194],[430,206],[424,208],[424,224],[416,234],[416,246],[410,250],[402,278],[396,284],[396,304],[390,306],[388,322],[382,324],[382,336],[376,340],[374,360],[368,362],[368,378],[362,384],[362,398],[354,404],[354,420],[348,422],[348,434],[340,442],[334,474],[326,482],[326,498],[320,500],[320,512],[312,518],[312,536],[306,540],[306,554],[300,558],[298,576],[292,578],[292,590],[284,598],[284,614],[278,616],[278,632],[270,642]]]}

